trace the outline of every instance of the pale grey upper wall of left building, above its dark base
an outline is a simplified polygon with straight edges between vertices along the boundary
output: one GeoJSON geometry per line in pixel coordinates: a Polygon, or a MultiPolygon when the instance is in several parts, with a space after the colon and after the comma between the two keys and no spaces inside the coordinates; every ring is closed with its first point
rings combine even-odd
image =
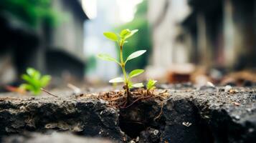
{"type": "Polygon", "coordinates": [[[51,29],[52,39],[49,46],[52,49],[67,51],[83,60],[83,24],[86,17],[80,3],[70,0],[52,0],[52,6],[60,14],[65,14],[65,19],[59,26],[51,29]]]}

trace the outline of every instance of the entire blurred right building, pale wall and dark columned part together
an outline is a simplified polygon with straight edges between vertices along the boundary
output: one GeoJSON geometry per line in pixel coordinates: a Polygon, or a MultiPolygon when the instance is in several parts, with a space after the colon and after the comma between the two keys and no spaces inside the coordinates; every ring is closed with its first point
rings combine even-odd
{"type": "Polygon", "coordinates": [[[148,7],[154,66],[256,66],[255,0],[151,0],[148,7]]]}

